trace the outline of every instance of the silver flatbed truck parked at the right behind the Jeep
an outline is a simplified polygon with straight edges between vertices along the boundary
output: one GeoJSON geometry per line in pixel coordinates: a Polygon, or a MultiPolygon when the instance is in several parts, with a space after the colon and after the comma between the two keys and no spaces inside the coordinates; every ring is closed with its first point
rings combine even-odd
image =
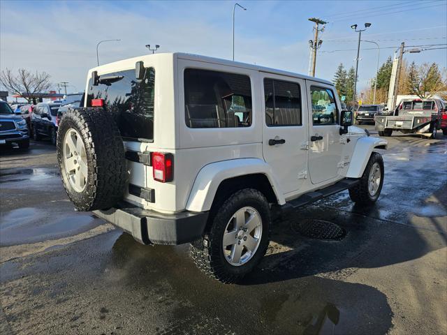
{"type": "Polygon", "coordinates": [[[392,115],[377,115],[375,120],[380,136],[391,136],[393,131],[400,131],[435,138],[438,130],[447,135],[447,106],[437,98],[404,99],[392,115]]]}

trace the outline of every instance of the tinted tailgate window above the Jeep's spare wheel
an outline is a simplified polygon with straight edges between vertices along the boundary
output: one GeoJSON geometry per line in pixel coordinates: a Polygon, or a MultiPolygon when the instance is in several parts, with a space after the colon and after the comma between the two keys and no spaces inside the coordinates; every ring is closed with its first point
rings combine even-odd
{"type": "Polygon", "coordinates": [[[142,80],[135,70],[107,73],[99,77],[98,86],[89,81],[87,106],[92,99],[103,99],[105,109],[115,119],[119,132],[127,140],[154,140],[155,70],[146,68],[142,80]]]}

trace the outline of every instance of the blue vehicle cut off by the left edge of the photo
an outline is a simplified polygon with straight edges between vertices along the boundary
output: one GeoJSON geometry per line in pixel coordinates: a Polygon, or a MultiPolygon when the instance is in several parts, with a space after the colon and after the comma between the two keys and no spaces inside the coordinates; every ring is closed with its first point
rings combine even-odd
{"type": "Polygon", "coordinates": [[[29,147],[27,121],[15,114],[6,101],[0,100],[0,144],[12,143],[23,149],[29,147]]]}

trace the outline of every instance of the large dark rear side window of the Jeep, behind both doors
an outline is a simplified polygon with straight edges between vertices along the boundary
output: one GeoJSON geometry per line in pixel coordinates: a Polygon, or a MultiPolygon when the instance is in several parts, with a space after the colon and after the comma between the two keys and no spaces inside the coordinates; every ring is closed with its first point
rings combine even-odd
{"type": "Polygon", "coordinates": [[[184,101],[189,128],[251,125],[251,84],[247,75],[187,68],[184,101]]]}

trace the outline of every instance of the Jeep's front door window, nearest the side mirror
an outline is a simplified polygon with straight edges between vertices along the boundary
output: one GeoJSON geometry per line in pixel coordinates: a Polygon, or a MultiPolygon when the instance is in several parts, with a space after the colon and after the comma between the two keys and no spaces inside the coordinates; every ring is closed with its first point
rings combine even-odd
{"type": "Polygon", "coordinates": [[[310,94],[312,98],[313,124],[316,126],[337,124],[338,108],[332,89],[312,86],[310,94]]]}

